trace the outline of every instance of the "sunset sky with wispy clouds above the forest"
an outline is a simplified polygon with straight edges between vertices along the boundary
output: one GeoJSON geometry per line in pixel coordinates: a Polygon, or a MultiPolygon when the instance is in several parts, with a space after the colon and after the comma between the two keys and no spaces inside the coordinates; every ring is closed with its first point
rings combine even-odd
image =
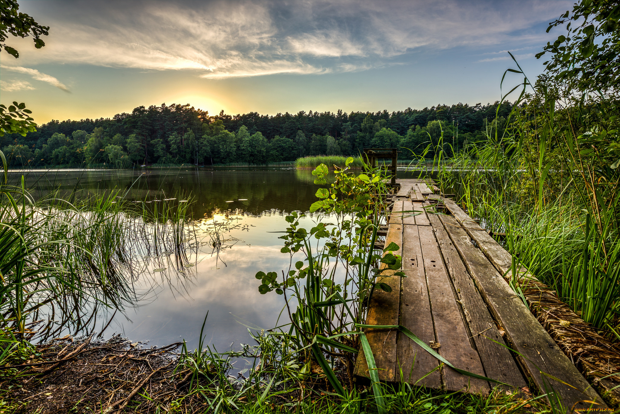
{"type": "MultiPolygon", "coordinates": [[[[210,115],[495,102],[573,1],[22,0],[45,47],[9,38],[0,101],[35,122],[191,104],[210,115]]],[[[556,29],[558,30],[558,29],[556,29]]],[[[510,97],[508,97],[510,99],[510,97]]]]}

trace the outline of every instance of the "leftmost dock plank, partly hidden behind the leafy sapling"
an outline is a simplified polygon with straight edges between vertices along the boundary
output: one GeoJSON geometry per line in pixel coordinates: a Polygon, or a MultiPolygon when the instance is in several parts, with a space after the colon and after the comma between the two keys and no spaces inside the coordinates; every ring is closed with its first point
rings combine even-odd
{"type": "MultiPolygon", "coordinates": [[[[387,229],[386,245],[392,241],[399,245],[396,254],[402,252],[402,224],[391,223],[387,229]]],[[[381,268],[385,268],[382,264],[381,268]]],[[[373,296],[368,304],[368,316],[366,325],[398,325],[398,314],[401,297],[401,277],[390,276],[394,271],[384,271],[381,276],[377,276],[375,282],[387,283],[391,292],[384,292],[381,289],[374,289],[373,296]]],[[[373,350],[374,362],[379,369],[379,379],[382,381],[396,380],[396,333],[397,330],[387,330],[379,328],[366,328],[366,338],[370,348],[373,350]]],[[[355,375],[368,377],[368,364],[363,350],[355,362],[355,375]]]]}

